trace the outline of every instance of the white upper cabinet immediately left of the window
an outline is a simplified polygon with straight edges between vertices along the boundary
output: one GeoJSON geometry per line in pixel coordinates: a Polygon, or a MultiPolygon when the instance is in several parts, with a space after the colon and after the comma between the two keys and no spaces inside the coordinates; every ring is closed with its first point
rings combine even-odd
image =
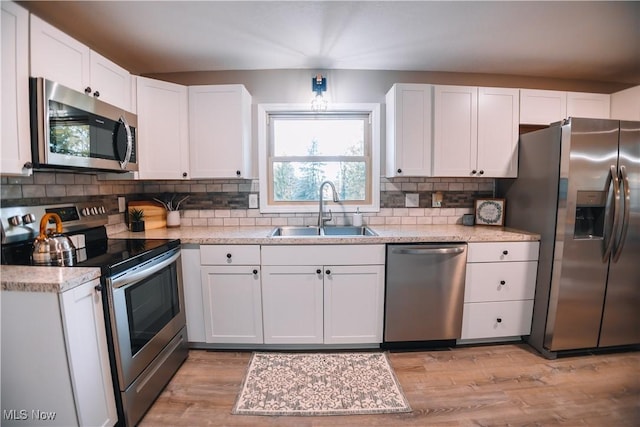
{"type": "Polygon", "coordinates": [[[251,95],[243,85],[189,86],[191,178],[251,178],[251,95]]]}

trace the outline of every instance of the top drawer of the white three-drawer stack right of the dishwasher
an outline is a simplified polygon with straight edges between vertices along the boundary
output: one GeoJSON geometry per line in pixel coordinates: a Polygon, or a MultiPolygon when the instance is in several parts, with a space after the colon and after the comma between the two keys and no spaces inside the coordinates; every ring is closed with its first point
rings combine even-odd
{"type": "Polygon", "coordinates": [[[469,243],[467,262],[537,261],[539,242],[469,243]]]}

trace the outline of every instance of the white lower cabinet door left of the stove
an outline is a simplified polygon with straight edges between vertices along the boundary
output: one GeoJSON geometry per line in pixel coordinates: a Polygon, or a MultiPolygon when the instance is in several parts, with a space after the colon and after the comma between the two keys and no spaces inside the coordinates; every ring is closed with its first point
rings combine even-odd
{"type": "Polygon", "coordinates": [[[83,426],[112,426],[116,413],[99,280],[61,295],[71,379],[83,426]]]}

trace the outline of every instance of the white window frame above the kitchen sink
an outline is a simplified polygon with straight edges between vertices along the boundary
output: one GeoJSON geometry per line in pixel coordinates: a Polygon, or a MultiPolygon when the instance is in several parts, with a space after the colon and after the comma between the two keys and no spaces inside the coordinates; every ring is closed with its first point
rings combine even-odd
{"type": "MultiPolygon", "coordinates": [[[[286,202],[271,203],[269,200],[269,187],[273,185],[271,180],[270,126],[269,119],[272,114],[278,115],[340,115],[340,113],[356,113],[368,115],[370,118],[371,146],[368,165],[370,168],[370,188],[365,189],[368,200],[361,204],[333,203],[328,205],[334,213],[355,212],[359,208],[361,212],[378,212],[380,210],[380,104],[331,104],[326,112],[312,112],[308,104],[258,104],[258,154],[259,154],[259,184],[260,184],[260,212],[261,213],[317,213],[318,202],[286,202]]],[[[365,131],[366,133],[366,131],[365,131]]],[[[365,155],[367,148],[365,147],[365,155]]],[[[306,156],[304,156],[306,157],[306,156]]],[[[304,158],[303,157],[303,158],[304,158]]],[[[365,156],[366,157],[366,156],[365,156]]]]}

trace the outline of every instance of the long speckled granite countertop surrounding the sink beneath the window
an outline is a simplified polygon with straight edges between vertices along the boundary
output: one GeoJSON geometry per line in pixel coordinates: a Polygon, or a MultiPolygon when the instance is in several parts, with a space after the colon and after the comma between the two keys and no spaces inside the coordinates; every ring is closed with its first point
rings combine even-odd
{"type": "Polygon", "coordinates": [[[539,234],[504,227],[463,225],[374,225],[377,236],[269,237],[270,227],[176,227],[118,233],[115,239],[180,239],[191,244],[385,244],[417,242],[519,242],[540,240],[539,234]]]}

